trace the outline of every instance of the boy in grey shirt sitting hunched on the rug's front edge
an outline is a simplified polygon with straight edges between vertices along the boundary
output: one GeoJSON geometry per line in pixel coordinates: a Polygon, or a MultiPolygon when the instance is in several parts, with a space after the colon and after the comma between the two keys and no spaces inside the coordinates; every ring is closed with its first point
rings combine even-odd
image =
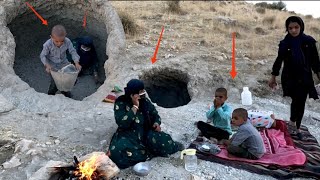
{"type": "Polygon", "coordinates": [[[232,124],[239,129],[230,140],[224,141],[224,145],[232,155],[256,160],[263,156],[265,148],[258,130],[247,119],[247,110],[238,108],[233,111],[232,124]]]}

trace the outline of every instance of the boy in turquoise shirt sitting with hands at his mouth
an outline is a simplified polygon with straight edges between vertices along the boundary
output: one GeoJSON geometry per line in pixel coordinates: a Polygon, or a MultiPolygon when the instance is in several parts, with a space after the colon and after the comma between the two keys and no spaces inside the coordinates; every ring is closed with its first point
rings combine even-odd
{"type": "MultiPolygon", "coordinates": [[[[206,113],[208,123],[198,121],[197,128],[208,139],[229,139],[232,134],[231,131],[231,112],[232,108],[225,103],[227,100],[227,90],[225,88],[218,88],[215,92],[213,105],[210,106],[209,111],[206,113]],[[212,122],[212,125],[209,123],[212,122]]],[[[213,140],[214,140],[213,139],[213,140]]]]}

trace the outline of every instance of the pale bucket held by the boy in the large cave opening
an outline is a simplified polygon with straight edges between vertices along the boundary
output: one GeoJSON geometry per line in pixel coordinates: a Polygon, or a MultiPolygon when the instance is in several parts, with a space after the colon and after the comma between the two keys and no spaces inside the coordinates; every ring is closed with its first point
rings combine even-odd
{"type": "Polygon", "coordinates": [[[59,91],[71,91],[77,80],[79,71],[73,64],[69,64],[59,71],[52,70],[51,76],[59,91]]]}

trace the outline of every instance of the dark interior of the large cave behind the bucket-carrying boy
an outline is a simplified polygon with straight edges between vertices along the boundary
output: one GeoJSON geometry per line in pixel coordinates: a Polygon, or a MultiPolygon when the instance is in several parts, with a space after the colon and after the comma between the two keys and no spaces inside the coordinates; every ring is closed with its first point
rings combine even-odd
{"type": "MultiPolygon", "coordinates": [[[[104,63],[106,56],[107,31],[104,22],[99,22],[87,16],[87,27],[82,27],[83,10],[73,6],[64,7],[59,4],[53,5],[56,9],[46,7],[36,8],[49,26],[42,25],[41,21],[28,9],[27,12],[17,16],[8,27],[15,37],[16,56],[14,62],[15,73],[37,92],[47,93],[49,87],[49,75],[40,61],[42,46],[50,38],[51,29],[56,24],[62,24],[67,30],[67,37],[75,39],[77,37],[89,35],[94,40],[94,45],[98,55],[98,75],[101,83],[105,80],[104,63]],[[45,9],[45,10],[44,10],[45,9]]],[[[93,94],[101,83],[96,84],[92,75],[81,76],[71,91],[72,98],[82,100],[93,94]]]]}

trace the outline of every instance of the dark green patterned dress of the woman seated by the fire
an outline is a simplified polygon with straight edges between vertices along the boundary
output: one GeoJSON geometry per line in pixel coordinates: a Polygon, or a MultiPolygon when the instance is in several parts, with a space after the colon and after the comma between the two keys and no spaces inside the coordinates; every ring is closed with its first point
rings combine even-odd
{"type": "MultiPolygon", "coordinates": [[[[161,124],[154,105],[146,99],[150,119],[161,124]]],[[[118,129],[113,135],[109,150],[110,159],[121,169],[146,161],[155,156],[166,157],[178,151],[178,145],[169,134],[145,128],[143,113],[131,110],[132,102],[119,97],[114,105],[114,115],[118,129]]]]}

